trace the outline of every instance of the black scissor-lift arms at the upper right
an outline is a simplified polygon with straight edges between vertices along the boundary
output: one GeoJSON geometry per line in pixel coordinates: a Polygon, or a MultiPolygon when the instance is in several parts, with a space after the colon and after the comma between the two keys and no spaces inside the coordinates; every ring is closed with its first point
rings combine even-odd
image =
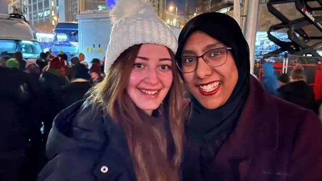
{"type": "Polygon", "coordinates": [[[267,3],[268,11],[274,15],[281,23],[272,25],[267,31],[268,38],[275,44],[280,46],[279,49],[269,52],[269,54],[279,54],[288,51],[290,54],[303,55],[311,54],[312,56],[320,56],[316,49],[322,46],[322,36],[309,36],[303,27],[314,25],[322,33],[322,16],[314,16],[313,12],[322,10],[322,0],[270,0],[267,3]],[[307,3],[317,2],[319,7],[312,8],[307,3]],[[297,11],[303,17],[289,20],[284,14],[278,11],[273,5],[294,3],[297,11]],[[281,41],[271,34],[273,31],[287,29],[287,35],[290,42],[281,41]],[[318,43],[308,45],[310,40],[320,40],[318,43]]]}

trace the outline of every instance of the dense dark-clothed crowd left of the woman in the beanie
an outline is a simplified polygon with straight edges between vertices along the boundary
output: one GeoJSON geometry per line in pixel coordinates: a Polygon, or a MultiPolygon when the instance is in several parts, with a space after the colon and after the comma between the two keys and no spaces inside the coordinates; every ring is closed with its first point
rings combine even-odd
{"type": "Polygon", "coordinates": [[[54,117],[105,76],[103,61],[94,58],[89,69],[83,53],[70,60],[62,51],[42,52],[36,61],[22,57],[20,51],[0,57],[0,180],[36,180],[47,162],[45,143],[54,117]]]}

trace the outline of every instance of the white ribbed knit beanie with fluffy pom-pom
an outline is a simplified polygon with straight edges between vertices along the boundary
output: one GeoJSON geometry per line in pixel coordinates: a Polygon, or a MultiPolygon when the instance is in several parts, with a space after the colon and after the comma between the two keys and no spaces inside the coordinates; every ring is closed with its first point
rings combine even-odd
{"type": "Polygon", "coordinates": [[[136,44],[159,44],[177,51],[175,34],[157,17],[148,0],[119,0],[110,12],[110,19],[113,27],[106,51],[105,73],[123,51],[136,44]]]}

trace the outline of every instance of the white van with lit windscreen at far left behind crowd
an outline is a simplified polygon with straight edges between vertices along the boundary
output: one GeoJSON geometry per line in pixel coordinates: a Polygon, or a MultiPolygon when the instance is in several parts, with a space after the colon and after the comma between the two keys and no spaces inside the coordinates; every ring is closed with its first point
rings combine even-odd
{"type": "Polygon", "coordinates": [[[16,51],[21,51],[26,61],[34,61],[42,48],[24,16],[0,14],[0,53],[12,56],[16,51]]]}

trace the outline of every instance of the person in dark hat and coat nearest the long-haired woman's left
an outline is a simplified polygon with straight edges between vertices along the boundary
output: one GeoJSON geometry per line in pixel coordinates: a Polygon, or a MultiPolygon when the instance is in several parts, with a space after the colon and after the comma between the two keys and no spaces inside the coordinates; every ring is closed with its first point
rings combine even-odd
{"type": "Polygon", "coordinates": [[[64,108],[85,98],[91,88],[89,70],[83,64],[78,64],[73,69],[72,81],[63,88],[62,100],[64,108]]]}

